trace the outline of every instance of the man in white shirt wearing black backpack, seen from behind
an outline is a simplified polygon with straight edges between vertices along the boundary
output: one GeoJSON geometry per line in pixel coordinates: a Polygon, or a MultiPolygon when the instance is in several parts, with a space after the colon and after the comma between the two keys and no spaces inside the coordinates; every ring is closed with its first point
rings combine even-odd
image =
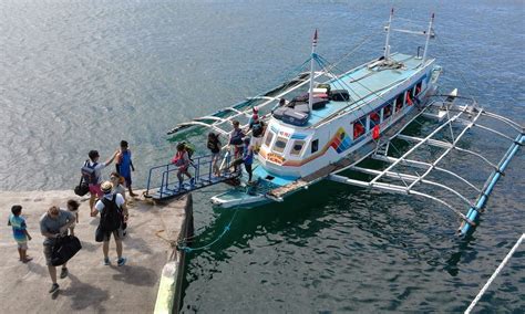
{"type": "Polygon", "coordinates": [[[104,253],[104,265],[110,264],[110,238],[113,234],[116,244],[116,264],[123,266],[126,259],[122,257],[122,239],[124,238],[124,226],[127,222],[128,213],[124,198],[120,193],[112,193],[113,185],[104,181],[101,186],[104,197],[100,199],[95,208],[91,211],[91,216],[95,217],[101,213],[100,230],[102,232],[102,252],[104,253]]]}

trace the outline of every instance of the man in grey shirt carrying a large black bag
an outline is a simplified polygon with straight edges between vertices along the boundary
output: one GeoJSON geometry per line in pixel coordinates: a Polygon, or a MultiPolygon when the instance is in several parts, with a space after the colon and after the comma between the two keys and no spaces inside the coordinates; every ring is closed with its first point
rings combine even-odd
{"type": "MultiPolygon", "coordinates": [[[[40,233],[45,238],[43,242],[43,252],[45,257],[45,264],[48,265],[49,275],[53,284],[49,290],[49,293],[54,293],[59,290],[56,283],[56,268],[51,264],[53,249],[56,245],[56,238],[68,234],[68,230],[75,222],[73,213],[59,209],[56,206],[52,206],[48,211],[40,218],[40,233]]],[[[60,278],[68,276],[68,263],[62,265],[60,278]]]]}

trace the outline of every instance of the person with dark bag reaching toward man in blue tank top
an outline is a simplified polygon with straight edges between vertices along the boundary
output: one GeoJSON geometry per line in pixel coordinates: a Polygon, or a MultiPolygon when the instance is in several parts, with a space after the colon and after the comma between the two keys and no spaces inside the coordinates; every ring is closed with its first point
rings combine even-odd
{"type": "Polygon", "coordinates": [[[107,165],[113,163],[113,159],[115,159],[116,155],[119,154],[119,150],[113,154],[113,156],[107,159],[105,163],[99,163],[99,151],[96,150],[90,150],[87,156],[90,159],[85,160],[84,166],[82,167],[82,178],[85,182],[89,184],[90,186],[90,209],[93,210],[93,205],[95,203],[95,197],[102,198],[103,193],[101,191],[101,182],[102,182],[102,177],[101,177],[101,170],[104,169],[107,165]]]}

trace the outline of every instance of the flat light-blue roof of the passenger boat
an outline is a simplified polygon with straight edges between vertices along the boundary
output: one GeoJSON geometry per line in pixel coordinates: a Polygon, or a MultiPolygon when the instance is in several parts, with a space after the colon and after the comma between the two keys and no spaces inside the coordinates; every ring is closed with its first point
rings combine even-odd
{"type": "Polygon", "coordinates": [[[390,87],[414,75],[422,63],[421,57],[403,53],[391,54],[390,60],[394,63],[401,63],[402,66],[399,69],[369,67],[373,63],[372,61],[327,82],[332,91],[347,90],[351,103],[330,101],[323,108],[310,113],[306,127],[315,126],[338,112],[351,112],[378,97],[378,95],[384,94],[390,87]]]}

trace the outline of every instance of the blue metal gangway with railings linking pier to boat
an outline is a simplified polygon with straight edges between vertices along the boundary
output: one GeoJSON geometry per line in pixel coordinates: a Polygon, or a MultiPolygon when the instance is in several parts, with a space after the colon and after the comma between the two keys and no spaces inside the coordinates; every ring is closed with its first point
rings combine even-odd
{"type": "MultiPolygon", "coordinates": [[[[177,178],[178,167],[166,164],[150,168],[146,191],[144,196],[154,200],[165,200],[179,197],[188,192],[203,189],[222,182],[231,181],[241,175],[240,170],[234,171],[230,150],[222,150],[217,163],[219,174],[214,174],[213,155],[192,157],[188,172],[192,179],[183,176],[177,178]]],[[[238,167],[240,169],[240,167],[238,167]]]]}

